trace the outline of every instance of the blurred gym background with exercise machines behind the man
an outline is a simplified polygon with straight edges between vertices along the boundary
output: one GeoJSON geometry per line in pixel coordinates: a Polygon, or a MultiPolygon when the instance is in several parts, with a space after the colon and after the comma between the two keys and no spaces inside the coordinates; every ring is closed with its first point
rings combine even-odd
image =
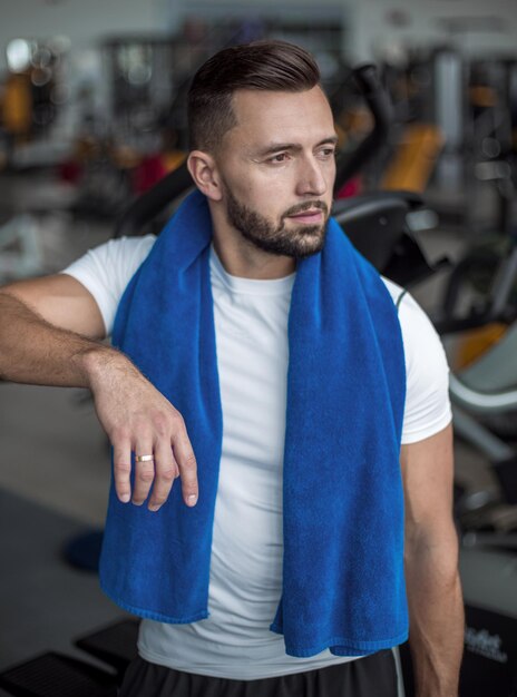
{"type": "MultiPolygon", "coordinates": [[[[390,97],[386,140],[339,197],[418,198],[400,227],[428,273],[408,285],[458,381],[461,695],[517,694],[515,0],[0,0],[0,284],[109,239],[184,161],[193,71],[260,38],[315,55],[348,156],[373,127],[351,68],[373,62],[390,97]]],[[[381,235],[393,223],[375,215],[381,235]]],[[[97,587],[90,533],[109,448],[88,394],[0,384],[0,671],[48,651],[108,671],[98,658],[109,654],[116,671],[134,627],[97,587]],[[75,645],[111,622],[105,655],[75,645]]]]}

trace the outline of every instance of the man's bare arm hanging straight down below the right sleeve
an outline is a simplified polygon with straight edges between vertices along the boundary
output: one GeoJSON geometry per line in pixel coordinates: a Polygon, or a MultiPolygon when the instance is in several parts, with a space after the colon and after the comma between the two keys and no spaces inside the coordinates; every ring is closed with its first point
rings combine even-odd
{"type": "Polygon", "coordinates": [[[457,697],[464,645],[452,430],[402,446],[406,581],[417,697],[457,697]]]}

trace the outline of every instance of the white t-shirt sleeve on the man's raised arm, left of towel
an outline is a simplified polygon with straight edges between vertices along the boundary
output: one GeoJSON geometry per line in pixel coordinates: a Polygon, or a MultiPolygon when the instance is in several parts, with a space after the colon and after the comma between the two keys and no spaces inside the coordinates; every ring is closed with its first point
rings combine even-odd
{"type": "Polygon", "coordinates": [[[110,336],[118,304],[127,284],[156,242],[154,235],[120,237],[89,249],[84,256],[62,269],[91,293],[110,336]]]}

